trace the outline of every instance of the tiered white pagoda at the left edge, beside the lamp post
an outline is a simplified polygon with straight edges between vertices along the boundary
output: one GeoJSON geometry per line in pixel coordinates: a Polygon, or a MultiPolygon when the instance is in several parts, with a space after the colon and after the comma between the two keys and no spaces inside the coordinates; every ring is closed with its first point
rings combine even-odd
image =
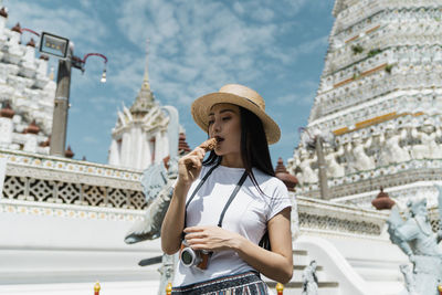
{"type": "Polygon", "coordinates": [[[35,57],[35,42],[22,43],[20,24],[6,28],[0,10],[0,147],[49,155],[55,96],[48,56],[35,57]]]}

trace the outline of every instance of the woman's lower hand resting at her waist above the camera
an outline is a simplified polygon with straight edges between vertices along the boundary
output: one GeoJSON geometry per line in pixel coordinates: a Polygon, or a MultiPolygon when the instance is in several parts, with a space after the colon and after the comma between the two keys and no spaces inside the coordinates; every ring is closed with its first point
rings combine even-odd
{"type": "Polygon", "coordinates": [[[238,247],[241,234],[219,226],[202,225],[185,229],[186,241],[193,250],[220,251],[238,247]]]}

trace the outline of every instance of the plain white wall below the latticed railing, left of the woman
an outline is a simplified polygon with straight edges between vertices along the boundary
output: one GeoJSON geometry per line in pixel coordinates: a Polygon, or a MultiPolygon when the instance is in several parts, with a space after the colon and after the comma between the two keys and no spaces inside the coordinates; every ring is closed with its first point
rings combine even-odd
{"type": "MultiPolygon", "coordinates": [[[[93,211],[101,214],[99,210],[93,211]]],[[[109,214],[117,210],[102,211],[109,214]]],[[[128,215],[134,213],[126,211],[128,215]]],[[[136,212],[137,215],[140,213],[136,212]]],[[[138,266],[140,260],[161,255],[159,240],[125,244],[124,235],[134,223],[128,219],[0,211],[0,223],[10,224],[3,226],[0,238],[0,285],[159,278],[158,265],[138,266]]]]}

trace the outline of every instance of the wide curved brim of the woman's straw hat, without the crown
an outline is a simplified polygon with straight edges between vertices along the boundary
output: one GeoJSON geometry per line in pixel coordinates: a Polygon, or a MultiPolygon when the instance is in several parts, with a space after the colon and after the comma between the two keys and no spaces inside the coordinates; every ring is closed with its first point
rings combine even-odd
{"type": "Polygon", "coordinates": [[[231,94],[215,92],[203,95],[197,98],[191,106],[191,113],[193,120],[204,133],[209,130],[209,112],[210,108],[215,104],[233,104],[244,107],[255,114],[263,123],[265,136],[269,145],[275,144],[281,138],[281,129],[277,124],[263,112],[256,104],[249,101],[245,97],[231,94]]]}

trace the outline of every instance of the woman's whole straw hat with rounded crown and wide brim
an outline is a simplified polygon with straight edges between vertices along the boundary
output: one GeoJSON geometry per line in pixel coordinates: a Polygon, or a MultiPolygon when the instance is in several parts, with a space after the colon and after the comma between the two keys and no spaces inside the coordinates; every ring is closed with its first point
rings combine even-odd
{"type": "Polygon", "coordinates": [[[255,91],[239,84],[228,84],[222,86],[219,92],[197,98],[191,107],[192,117],[206,133],[209,129],[210,108],[215,104],[233,104],[249,109],[263,123],[269,145],[280,140],[280,127],[265,114],[265,102],[255,91]]]}

